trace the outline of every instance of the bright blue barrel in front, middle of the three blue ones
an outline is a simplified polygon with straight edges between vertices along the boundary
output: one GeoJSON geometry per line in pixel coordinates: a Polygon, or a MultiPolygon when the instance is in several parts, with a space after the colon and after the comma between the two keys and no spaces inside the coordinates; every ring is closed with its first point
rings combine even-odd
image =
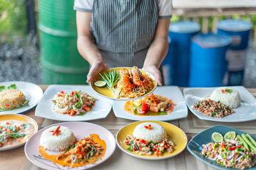
{"type": "Polygon", "coordinates": [[[231,38],[228,35],[198,34],[192,38],[189,87],[225,85],[225,54],[231,38]]]}

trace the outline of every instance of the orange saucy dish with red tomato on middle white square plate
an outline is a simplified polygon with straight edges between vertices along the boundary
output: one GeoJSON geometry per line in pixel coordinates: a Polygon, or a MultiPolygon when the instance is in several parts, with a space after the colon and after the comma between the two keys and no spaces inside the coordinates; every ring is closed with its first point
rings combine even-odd
{"type": "Polygon", "coordinates": [[[167,115],[172,113],[174,106],[172,99],[150,94],[141,99],[127,101],[124,110],[134,115],[167,115]]]}

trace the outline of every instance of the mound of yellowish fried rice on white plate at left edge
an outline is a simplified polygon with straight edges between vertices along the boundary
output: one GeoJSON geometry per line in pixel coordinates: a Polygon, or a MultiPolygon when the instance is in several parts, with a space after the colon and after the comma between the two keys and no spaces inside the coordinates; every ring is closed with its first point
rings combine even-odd
{"type": "Polygon", "coordinates": [[[0,108],[18,108],[26,101],[26,97],[20,90],[10,89],[0,92],[0,108]]]}

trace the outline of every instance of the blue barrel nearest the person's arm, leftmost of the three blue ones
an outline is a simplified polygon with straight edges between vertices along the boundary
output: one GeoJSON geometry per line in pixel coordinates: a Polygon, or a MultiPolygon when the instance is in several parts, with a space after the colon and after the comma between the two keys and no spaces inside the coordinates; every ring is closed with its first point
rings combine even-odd
{"type": "Polygon", "coordinates": [[[166,71],[164,67],[170,68],[168,74],[170,80],[166,80],[164,76],[165,85],[188,87],[191,38],[198,34],[200,29],[199,24],[191,21],[170,24],[168,36],[172,39],[172,43],[162,64],[164,71],[166,71]]]}

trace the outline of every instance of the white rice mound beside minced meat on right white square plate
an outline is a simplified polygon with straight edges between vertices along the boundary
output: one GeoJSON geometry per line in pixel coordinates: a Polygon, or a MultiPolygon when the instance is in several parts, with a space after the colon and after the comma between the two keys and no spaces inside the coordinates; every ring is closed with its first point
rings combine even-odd
{"type": "Polygon", "coordinates": [[[234,109],[238,108],[241,103],[241,98],[237,90],[230,89],[229,87],[219,87],[215,89],[210,99],[212,101],[220,101],[220,103],[225,104],[226,106],[234,109]],[[232,90],[232,92],[226,92],[225,90],[232,90]]]}

